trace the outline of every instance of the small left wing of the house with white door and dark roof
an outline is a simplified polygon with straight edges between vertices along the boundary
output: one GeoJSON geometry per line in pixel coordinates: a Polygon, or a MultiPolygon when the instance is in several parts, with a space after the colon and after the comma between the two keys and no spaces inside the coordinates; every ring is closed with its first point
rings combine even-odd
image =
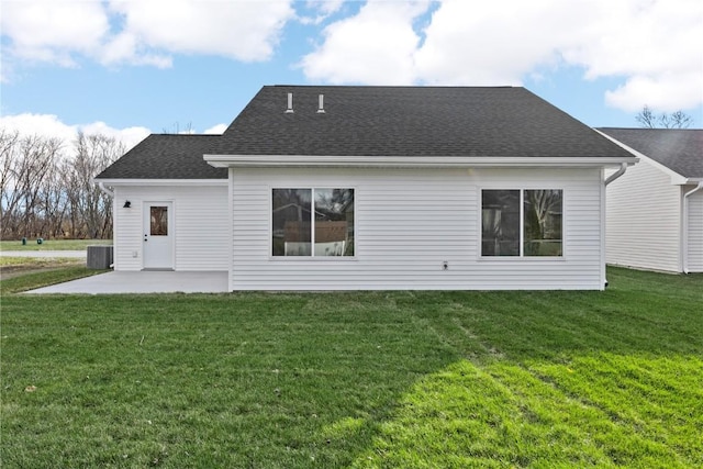
{"type": "Polygon", "coordinates": [[[227,172],[202,160],[217,138],[150,135],[96,178],[113,198],[115,270],[228,270],[227,172]]]}

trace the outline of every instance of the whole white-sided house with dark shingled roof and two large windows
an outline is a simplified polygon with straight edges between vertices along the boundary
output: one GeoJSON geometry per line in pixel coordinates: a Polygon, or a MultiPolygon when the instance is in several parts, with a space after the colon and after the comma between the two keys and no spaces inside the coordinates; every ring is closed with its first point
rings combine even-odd
{"type": "Polygon", "coordinates": [[[603,289],[621,146],[524,88],[264,87],[96,180],[116,270],[236,290],[603,289]],[[129,203],[127,203],[129,201],[129,203]]]}

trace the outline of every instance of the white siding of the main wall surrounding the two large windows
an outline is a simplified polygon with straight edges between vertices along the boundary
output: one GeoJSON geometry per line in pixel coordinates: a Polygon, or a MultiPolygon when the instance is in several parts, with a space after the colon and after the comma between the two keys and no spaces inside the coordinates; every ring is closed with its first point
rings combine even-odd
{"type": "Polygon", "coordinates": [[[232,290],[603,288],[600,169],[236,168],[230,175],[232,290]],[[355,188],[356,256],[271,256],[276,187],[355,188]],[[563,257],[481,258],[480,191],[491,187],[562,189],[563,257]]]}

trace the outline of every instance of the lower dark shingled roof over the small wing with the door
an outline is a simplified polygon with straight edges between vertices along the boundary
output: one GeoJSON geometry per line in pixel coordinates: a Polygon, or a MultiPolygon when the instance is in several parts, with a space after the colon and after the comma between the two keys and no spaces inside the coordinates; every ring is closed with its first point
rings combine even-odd
{"type": "Polygon", "coordinates": [[[203,159],[220,137],[152,134],[96,179],[227,179],[226,168],[203,159]]]}

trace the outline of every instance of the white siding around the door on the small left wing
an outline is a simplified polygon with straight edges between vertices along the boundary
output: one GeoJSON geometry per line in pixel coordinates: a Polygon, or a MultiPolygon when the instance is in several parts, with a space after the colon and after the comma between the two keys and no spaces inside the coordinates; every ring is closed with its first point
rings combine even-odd
{"type": "Polygon", "coordinates": [[[114,198],[115,270],[143,268],[143,202],[172,202],[175,270],[230,268],[226,186],[116,187],[114,198]],[[124,201],[132,206],[124,209],[124,201]]]}

